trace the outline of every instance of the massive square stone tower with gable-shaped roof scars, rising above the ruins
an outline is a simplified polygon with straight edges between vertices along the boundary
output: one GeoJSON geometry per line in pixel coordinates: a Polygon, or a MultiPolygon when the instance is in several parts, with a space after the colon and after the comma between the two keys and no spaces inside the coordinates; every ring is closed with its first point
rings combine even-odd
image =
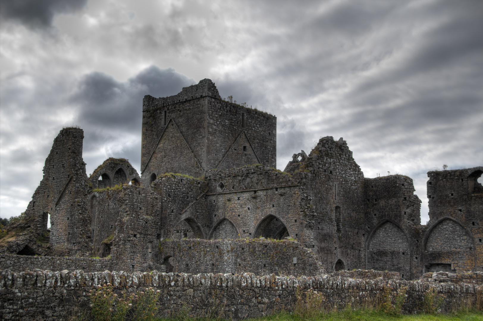
{"type": "Polygon", "coordinates": [[[142,184],[164,173],[276,166],[277,118],[221,99],[210,79],[142,104],[142,184]]]}

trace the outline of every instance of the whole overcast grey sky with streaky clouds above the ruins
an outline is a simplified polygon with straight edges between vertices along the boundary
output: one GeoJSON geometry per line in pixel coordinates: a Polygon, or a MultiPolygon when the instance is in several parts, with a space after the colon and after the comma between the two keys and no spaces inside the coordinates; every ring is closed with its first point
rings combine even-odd
{"type": "MultiPolygon", "coordinates": [[[[343,137],[365,177],[483,165],[483,1],[1,0],[0,215],[27,207],[62,126],[87,174],[140,169],[142,97],[203,78],[277,116],[277,167],[343,137]]],[[[481,180],[481,179],[480,179],[481,180]]]]}

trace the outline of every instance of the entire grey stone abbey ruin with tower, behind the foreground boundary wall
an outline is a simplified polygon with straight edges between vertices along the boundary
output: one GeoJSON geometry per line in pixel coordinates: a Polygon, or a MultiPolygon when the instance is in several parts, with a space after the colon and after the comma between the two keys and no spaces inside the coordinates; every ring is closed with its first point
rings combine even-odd
{"type": "Polygon", "coordinates": [[[209,79],[144,97],[141,175],[109,158],[87,177],[83,133],[57,135],[23,220],[0,239],[0,269],[483,271],[483,167],[428,172],[422,225],[412,179],[365,178],[342,138],[276,169],[276,117],[225,101],[209,79]]]}

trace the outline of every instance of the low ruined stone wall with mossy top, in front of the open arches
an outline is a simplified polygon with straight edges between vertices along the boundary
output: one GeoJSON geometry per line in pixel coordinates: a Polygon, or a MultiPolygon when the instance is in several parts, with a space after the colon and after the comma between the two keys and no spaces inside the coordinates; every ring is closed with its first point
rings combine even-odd
{"type": "Polygon", "coordinates": [[[158,262],[166,266],[159,270],[167,272],[294,276],[326,273],[313,251],[291,240],[163,240],[158,243],[157,254],[158,262]]]}

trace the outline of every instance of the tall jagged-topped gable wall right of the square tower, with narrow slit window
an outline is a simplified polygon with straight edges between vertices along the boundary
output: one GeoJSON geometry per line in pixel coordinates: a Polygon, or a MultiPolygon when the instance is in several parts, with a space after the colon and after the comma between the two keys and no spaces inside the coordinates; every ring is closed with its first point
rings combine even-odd
{"type": "Polygon", "coordinates": [[[364,174],[345,140],[321,138],[309,155],[294,154],[285,170],[303,182],[303,244],[313,248],[328,272],[364,266],[364,174]]]}

